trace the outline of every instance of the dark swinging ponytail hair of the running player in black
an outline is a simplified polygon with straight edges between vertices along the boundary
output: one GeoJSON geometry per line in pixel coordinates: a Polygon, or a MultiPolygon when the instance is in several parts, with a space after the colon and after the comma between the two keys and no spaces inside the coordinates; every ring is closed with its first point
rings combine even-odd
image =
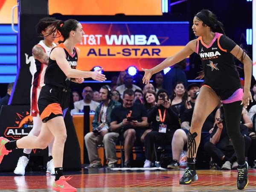
{"type": "Polygon", "coordinates": [[[58,35],[56,35],[56,38],[62,36],[63,40],[58,41],[59,44],[64,43],[67,38],[69,38],[70,31],[76,31],[76,28],[78,27],[77,24],[79,23],[75,19],[69,19],[69,20],[54,20],[54,21],[43,21],[42,23],[52,25],[51,31],[47,34],[51,35],[52,33],[58,31],[58,35]]]}

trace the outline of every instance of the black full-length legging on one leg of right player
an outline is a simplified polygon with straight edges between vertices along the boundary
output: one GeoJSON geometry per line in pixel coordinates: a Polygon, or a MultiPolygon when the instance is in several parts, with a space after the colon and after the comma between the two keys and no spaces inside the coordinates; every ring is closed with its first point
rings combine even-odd
{"type": "Polygon", "coordinates": [[[223,104],[224,116],[226,121],[227,134],[230,137],[236,152],[237,163],[243,165],[244,157],[244,138],[240,132],[240,121],[243,105],[241,101],[223,104]]]}

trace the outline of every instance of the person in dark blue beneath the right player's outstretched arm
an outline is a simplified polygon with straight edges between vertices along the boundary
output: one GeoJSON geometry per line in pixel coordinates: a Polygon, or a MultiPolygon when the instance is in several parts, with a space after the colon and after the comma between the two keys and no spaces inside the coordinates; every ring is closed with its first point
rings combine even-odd
{"type": "Polygon", "coordinates": [[[186,69],[186,59],[175,64],[172,67],[172,70],[164,75],[163,88],[166,89],[169,94],[174,90],[175,83],[177,81],[183,82],[185,84],[185,88],[187,87],[186,73],[183,71],[184,69],[186,69]]]}

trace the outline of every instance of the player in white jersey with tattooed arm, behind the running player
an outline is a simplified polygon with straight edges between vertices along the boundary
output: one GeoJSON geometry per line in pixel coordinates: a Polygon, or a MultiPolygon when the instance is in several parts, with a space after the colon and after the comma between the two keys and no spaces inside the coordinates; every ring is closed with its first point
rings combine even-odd
{"type": "MultiPolygon", "coordinates": [[[[53,47],[56,46],[54,43],[55,34],[49,34],[50,29],[52,28],[52,21],[55,21],[54,18],[46,17],[41,19],[36,25],[36,31],[38,35],[44,37],[44,40],[41,40],[38,44],[36,44],[32,49],[32,54],[35,58],[35,62],[31,62],[32,68],[32,86],[30,90],[30,102],[31,102],[31,110],[30,114],[33,117],[33,128],[29,132],[29,136],[38,136],[41,127],[42,120],[39,116],[38,111],[38,97],[41,91],[41,88],[44,86],[44,74],[48,65],[49,55],[53,47]]],[[[52,160],[52,145],[53,141],[48,145],[49,151],[49,159],[47,162],[47,174],[54,175],[54,165],[52,160]]],[[[32,149],[24,149],[23,154],[18,160],[17,167],[14,170],[16,175],[24,175],[25,168],[29,163],[29,154],[32,149]]]]}

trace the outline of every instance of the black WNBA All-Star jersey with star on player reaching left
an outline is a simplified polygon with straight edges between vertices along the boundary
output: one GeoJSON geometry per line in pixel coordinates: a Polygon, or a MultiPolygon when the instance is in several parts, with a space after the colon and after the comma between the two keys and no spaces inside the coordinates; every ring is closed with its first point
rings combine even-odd
{"type": "Polygon", "coordinates": [[[209,46],[204,44],[202,37],[197,39],[197,53],[205,74],[204,84],[216,90],[241,88],[239,73],[230,53],[234,47],[234,41],[217,32],[209,46]]]}

